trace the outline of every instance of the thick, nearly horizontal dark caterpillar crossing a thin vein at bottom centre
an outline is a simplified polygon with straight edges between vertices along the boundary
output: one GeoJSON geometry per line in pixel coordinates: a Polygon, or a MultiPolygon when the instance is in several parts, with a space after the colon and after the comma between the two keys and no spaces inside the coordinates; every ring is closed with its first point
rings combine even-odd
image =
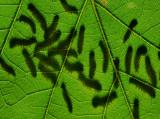
{"type": "Polygon", "coordinates": [[[115,91],[112,91],[110,94],[107,94],[102,97],[100,96],[93,97],[92,105],[93,107],[105,106],[106,103],[110,104],[116,98],[117,98],[117,93],[115,91]]]}

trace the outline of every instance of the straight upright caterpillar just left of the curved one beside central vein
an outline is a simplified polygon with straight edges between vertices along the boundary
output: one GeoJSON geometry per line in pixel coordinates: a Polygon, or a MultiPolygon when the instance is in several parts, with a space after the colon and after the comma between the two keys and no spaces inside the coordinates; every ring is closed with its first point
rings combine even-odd
{"type": "Polygon", "coordinates": [[[89,78],[92,79],[96,71],[96,61],[94,51],[89,54],[89,78]]]}

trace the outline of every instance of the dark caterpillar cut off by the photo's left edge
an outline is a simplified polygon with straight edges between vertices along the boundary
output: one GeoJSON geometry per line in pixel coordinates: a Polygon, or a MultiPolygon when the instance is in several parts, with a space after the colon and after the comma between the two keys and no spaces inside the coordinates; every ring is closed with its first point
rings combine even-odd
{"type": "Polygon", "coordinates": [[[12,66],[8,65],[3,59],[2,57],[0,57],[0,65],[1,67],[8,72],[9,74],[16,76],[16,73],[14,71],[14,69],[12,68],[12,66]]]}

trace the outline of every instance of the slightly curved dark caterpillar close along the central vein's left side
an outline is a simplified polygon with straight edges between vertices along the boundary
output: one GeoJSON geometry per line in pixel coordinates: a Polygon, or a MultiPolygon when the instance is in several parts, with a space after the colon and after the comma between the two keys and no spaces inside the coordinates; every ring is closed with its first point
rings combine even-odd
{"type": "Polygon", "coordinates": [[[100,46],[102,53],[103,53],[103,69],[102,70],[105,73],[107,71],[108,62],[109,62],[108,50],[107,50],[106,45],[103,41],[99,42],[99,46],[100,46]]]}

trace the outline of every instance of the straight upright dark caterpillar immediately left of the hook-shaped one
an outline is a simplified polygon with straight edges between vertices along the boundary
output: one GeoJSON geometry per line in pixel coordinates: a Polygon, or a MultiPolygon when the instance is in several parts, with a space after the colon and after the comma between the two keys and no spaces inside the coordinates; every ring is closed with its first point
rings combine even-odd
{"type": "Polygon", "coordinates": [[[127,53],[125,56],[125,69],[126,73],[130,73],[131,69],[131,62],[132,62],[132,55],[133,55],[133,49],[131,46],[128,47],[127,53]]]}

